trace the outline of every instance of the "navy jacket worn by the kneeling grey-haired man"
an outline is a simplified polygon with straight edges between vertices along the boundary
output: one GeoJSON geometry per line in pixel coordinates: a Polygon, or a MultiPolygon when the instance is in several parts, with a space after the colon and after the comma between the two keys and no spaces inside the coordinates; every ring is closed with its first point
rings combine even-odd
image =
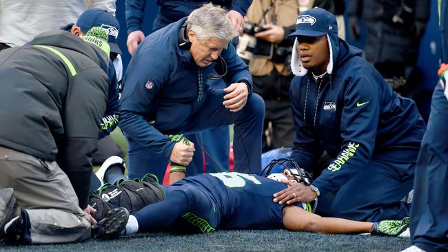
{"type": "MultiPolygon", "coordinates": [[[[207,96],[207,76],[216,64],[198,67],[190,52],[179,48],[179,29],[185,20],[147,36],[123,79],[119,127],[127,137],[167,158],[174,143],[164,134],[182,131],[188,117],[201,108],[207,96]],[[203,90],[198,89],[200,71],[203,90]]],[[[252,92],[252,76],[234,46],[229,45],[221,56],[227,63],[228,83],[245,82],[252,92]]]]}

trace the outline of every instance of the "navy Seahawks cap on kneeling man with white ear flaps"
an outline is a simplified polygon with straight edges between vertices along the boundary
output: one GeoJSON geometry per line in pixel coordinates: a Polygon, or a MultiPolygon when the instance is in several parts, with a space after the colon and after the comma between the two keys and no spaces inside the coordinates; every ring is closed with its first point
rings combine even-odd
{"type": "Polygon", "coordinates": [[[334,14],[323,8],[305,10],[298,15],[296,31],[287,38],[294,36],[322,36],[325,34],[338,34],[338,24],[334,14]]]}

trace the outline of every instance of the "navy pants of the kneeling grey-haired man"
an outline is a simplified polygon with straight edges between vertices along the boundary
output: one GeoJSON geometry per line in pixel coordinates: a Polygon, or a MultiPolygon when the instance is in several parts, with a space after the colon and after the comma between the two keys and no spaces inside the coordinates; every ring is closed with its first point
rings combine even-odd
{"type": "MultiPolygon", "coordinates": [[[[223,106],[224,95],[223,90],[209,90],[201,109],[188,118],[187,125],[177,134],[196,133],[234,123],[234,171],[258,174],[261,170],[261,132],[265,116],[263,99],[258,94],[251,94],[245,107],[233,113],[223,106]]],[[[162,133],[166,130],[168,129],[159,129],[162,133]]],[[[151,173],[156,175],[159,181],[163,181],[167,157],[155,154],[132,138],[127,140],[130,178],[140,178],[151,173]]],[[[196,147],[196,158],[202,155],[199,149],[196,147]]],[[[193,175],[189,173],[187,169],[187,176],[193,175]]]]}

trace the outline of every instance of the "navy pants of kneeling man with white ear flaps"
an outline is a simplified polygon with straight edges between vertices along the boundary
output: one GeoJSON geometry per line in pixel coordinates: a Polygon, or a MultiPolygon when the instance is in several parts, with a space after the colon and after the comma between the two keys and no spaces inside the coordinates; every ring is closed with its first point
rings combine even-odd
{"type": "MultiPolygon", "coordinates": [[[[418,150],[409,153],[413,155],[410,160],[417,159],[418,150]]],[[[412,189],[414,169],[415,162],[372,158],[338,191],[320,196],[318,213],[367,222],[401,220],[409,216],[410,205],[400,200],[412,189]]]]}

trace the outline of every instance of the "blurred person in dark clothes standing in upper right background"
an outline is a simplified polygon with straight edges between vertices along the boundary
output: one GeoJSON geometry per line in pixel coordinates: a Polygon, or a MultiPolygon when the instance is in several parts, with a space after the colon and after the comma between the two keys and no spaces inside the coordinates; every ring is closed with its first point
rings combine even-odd
{"type": "Polygon", "coordinates": [[[364,55],[396,92],[416,98],[421,74],[416,67],[420,39],[429,19],[429,0],[353,0],[349,2],[349,32],[361,34],[360,18],[367,31],[364,55]]]}

